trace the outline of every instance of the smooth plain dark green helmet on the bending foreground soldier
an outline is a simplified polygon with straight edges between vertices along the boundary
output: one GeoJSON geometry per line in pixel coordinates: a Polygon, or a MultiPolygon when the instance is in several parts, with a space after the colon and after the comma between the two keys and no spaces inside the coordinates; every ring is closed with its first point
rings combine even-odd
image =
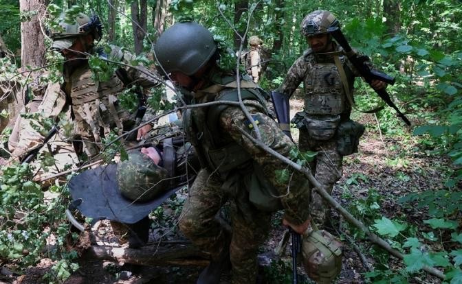
{"type": "Polygon", "coordinates": [[[192,75],[217,50],[212,33],[195,22],[175,23],[157,39],[154,51],[166,73],[179,71],[192,75]]]}

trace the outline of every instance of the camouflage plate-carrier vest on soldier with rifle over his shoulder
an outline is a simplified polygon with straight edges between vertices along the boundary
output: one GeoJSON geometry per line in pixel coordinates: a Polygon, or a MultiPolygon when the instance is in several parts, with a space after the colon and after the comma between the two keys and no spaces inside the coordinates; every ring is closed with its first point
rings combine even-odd
{"type": "Polygon", "coordinates": [[[309,115],[340,115],[351,108],[333,56],[339,57],[347,77],[347,85],[351,91],[353,90],[354,75],[341,51],[333,55],[314,54],[309,51],[305,55],[309,72],[305,75],[304,81],[305,112],[309,115]]]}

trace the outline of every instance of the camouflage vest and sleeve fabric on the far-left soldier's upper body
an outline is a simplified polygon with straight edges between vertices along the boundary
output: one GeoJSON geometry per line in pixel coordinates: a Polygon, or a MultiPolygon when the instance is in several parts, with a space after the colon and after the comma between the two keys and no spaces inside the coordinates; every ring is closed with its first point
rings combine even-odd
{"type": "MultiPolygon", "coordinates": [[[[120,47],[111,46],[109,59],[130,64],[133,56],[120,47]]],[[[155,78],[146,75],[152,73],[146,67],[140,65],[137,69],[124,69],[130,82],[137,82],[144,88],[159,84],[155,78]]],[[[122,129],[128,131],[134,126],[134,115],[117,102],[117,96],[125,86],[115,73],[107,82],[94,81],[87,62],[75,70],[70,70],[65,64],[64,73],[65,92],[72,98],[77,134],[83,140],[87,155],[96,156],[102,147],[101,138],[107,136],[113,128],[117,127],[121,133],[122,129]]],[[[145,116],[144,121],[149,114],[145,116]]]]}

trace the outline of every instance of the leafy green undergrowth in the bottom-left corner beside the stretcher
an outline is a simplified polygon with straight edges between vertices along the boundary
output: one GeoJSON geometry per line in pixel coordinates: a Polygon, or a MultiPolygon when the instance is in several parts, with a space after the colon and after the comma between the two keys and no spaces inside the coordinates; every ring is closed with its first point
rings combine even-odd
{"type": "Polygon", "coordinates": [[[58,196],[44,202],[41,185],[32,181],[32,167],[28,164],[3,167],[0,176],[0,257],[12,261],[17,268],[34,265],[41,258],[47,242],[56,240],[56,249],[47,252],[51,259],[67,261],[56,268],[57,279],[64,281],[76,265],[75,252],[66,251],[63,244],[69,231],[65,220],[67,191],[53,185],[50,191],[58,196]]]}

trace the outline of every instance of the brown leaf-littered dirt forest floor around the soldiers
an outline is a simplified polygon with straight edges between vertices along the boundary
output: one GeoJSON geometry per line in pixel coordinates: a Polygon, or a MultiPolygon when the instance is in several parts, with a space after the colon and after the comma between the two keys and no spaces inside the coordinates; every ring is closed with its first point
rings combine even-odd
{"type": "MultiPolygon", "coordinates": [[[[292,102],[291,102],[292,103],[292,102]]],[[[296,101],[292,103],[294,110],[301,108],[303,102],[296,101]]],[[[294,113],[292,113],[294,115],[294,113]]],[[[375,119],[373,115],[361,115],[359,120],[367,126],[374,126],[375,119]]],[[[294,131],[294,139],[298,135],[294,131]]],[[[369,191],[374,189],[383,198],[381,211],[383,215],[388,218],[393,218],[399,215],[408,215],[412,218],[424,218],[423,213],[417,209],[403,208],[397,204],[396,200],[399,196],[404,196],[407,193],[415,191],[425,191],[428,189],[443,188],[445,180],[441,177],[438,171],[439,165],[448,165],[450,161],[445,158],[435,158],[434,156],[427,156],[421,152],[413,151],[417,146],[417,139],[410,138],[406,141],[399,141],[397,137],[385,136],[383,140],[380,138],[377,130],[367,128],[364,137],[360,141],[360,152],[347,156],[344,158],[344,173],[342,179],[336,184],[333,191],[333,196],[342,205],[347,206],[351,200],[344,198],[344,191],[351,191],[354,198],[366,198],[369,191]],[[389,161],[403,161],[395,163],[391,166],[389,161]],[[406,161],[404,163],[404,161],[406,161]],[[364,175],[367,178],[361,179],[358,176],[364,175]],[[406,176],[407,178],[397,178],[406,176]],[[356,178],[355,178],[356,177],[356,178]],[[349,187],[345,185],[355,178],[355,182],[350,183],[349,187]]],[[[168,214],[171,210],[169,207],[164,209],[164,214],[168,214]]],[[[280,216],[280,215],[279,215],[280,216]]],[[[332,211],[331,213],[334,227],[344,230],[347,235],[350,233],[346,226],[342,223],[345,222],[338,213],[332,211]]],[[[154,220],[154,224],[155,224],[154,220]]],[[[274,230],[267,240],[265,245],[261,248],[261,263],[270,262],[270,258],[274,257],[272,252],[278,244],[278,241],[283,235],[284,228],[278,224],[278,220],[274,221],[274,230]],[[266,257],[265,257],[266,256],[266,257]],[[270,257],[267,257],[270,256],[270,257]]],[[[175,221],[171,222],[175,226],[175,221]]],[[[96,230],[94,231],[96,232],[96,230]]],[[[98,231],[99,232],[99,231],[98,231]]],[[[159,236],[159,228],[154,228],[151,238],[155,241],[159,236]]],[[[98,233],[96,233],[98,235],[98,233]]],[[[168,235],[164,234],[165,239],[181,239],[181,233],[178,230],[171,231],[168,235]]],[[[344,243],[344,257],[342,272],[338,277],[336,283],[365,283],[363,273],[367,271],[366,263],[371,265],[375,264],[375,260],[368,254],[371,244],[368,241],[361,241],[356,244],[350,243],[347,239],[343,239],[344,243]],[[360,251],[366,259],[366,263],[360,259],[358,253],[353,246],[360,248],[360,251]]],[[[285,263],[290,263],[290,250],[287,248],[285,255],[282,259],[285,263]]],[[[50,270],[52,262],[49,259],[43,259],[39,265],[30,268],[24,275],[15,278],[2,280],[0,283],[14,283],[14,284],[36,284],[43,283],[41,276],[47,270],[50,270]],[[3,282],[2,282],[3,281],[3,282]]],[[[201,267],[140,267],[133,265],[123,265],[123,263],[115,263],[112,261],[101,260],[88,260],[82,259],[79,262],[80,268],[72,274],[72,276],[65,282],[69,284],[83,284],[83,283],[195,283],[201,267]]],[[[388,262],[391,268],[398,267],[399,261],[391,260],[388,262]]],[[[262,268],[262,270],[271,269],[262,268]]],[[[299,265],[298,269],[301,275],[300,283],[313,283],[307,280],[304,275],[303,268],[299,265]]],[[[290,265],[286,267],[286,274],[290,275],[290,265]]],[[[266,275],[268,275],[266,273],[266,275]]],[[[223,283],[227,283],[229,277],[224,277],[223,283]]],[[[440,283],[439,280],[432,276],[423,274],[419,278],[409,279],[410,283],[440,283]]],[[[272,279],[266,279],[264,283],[276,283],[272,279]]],[[[281,283],[290,283],[285,281],[281,283]]]]}

